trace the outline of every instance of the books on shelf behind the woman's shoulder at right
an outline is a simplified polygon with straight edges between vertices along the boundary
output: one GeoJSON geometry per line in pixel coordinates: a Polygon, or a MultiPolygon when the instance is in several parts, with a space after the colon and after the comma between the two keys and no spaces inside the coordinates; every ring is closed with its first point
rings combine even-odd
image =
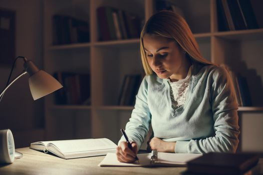
{"type": "Polygon", "coordinates": [[[240,75],[239,73],[235,73],[227,65],[222,64],[221,66],[226,68],[229,72],[233,82],[238,106],[252,106],[251,95],[246,77],[240,75]]]}

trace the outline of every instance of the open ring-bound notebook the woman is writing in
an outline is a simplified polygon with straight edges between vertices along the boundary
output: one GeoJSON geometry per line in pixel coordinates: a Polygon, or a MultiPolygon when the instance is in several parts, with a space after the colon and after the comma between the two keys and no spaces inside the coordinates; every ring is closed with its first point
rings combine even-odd
{"type": "Polygon", "coordinates": [[[99,166],[186,166],[186,162],[201,156],[197,153],[158,152],[158,160],[150,164],[151,153],[137,154],[140,163],[123,163],[117,160],[115,153],[107,153],[99,166]]]}

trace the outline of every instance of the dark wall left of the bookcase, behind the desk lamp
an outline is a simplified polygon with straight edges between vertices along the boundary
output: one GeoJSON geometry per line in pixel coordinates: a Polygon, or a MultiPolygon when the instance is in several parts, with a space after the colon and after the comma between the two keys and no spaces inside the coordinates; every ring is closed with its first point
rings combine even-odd
{"type": "MultiPolygon", "coordinates": [[[[39,68],[43,66],[42,6],[42,0],[0,1],[0,8],[16,11],[15,55],[32,59],[39,68]]],[[[13,78],[22,72],[23,63],[22,59],[17,61],[13,78]]],[[[11,66],[0,64],[1,90],[7,82],[11,66]]],[[[6,91],[0,102],[0,111],[0,129],[10,128],[12,130],[16,147],[29,146],[31,141],[44,138],[44,99],[33,100],[29,89],[28,74],[17,80],[6,91]]]]}

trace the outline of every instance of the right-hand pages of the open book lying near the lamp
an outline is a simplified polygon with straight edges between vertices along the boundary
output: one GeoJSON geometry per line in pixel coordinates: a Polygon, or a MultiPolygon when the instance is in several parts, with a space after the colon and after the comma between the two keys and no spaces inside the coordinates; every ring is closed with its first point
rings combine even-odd
{"type": "Polygon", "coordinates": [[[56,147],[62,153],[115,149],[117,145],[107,138],[89,138],[49,141],[48,146],[56,147]]]}

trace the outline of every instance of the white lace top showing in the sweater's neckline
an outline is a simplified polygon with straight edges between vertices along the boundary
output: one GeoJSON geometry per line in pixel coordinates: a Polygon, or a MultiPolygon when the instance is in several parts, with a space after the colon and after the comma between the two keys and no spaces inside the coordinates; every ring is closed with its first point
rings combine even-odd
{"type": "Polygon", "coordinates": [[[189,89],[190,76],[192,71],[192,65],[188,70],[188,74],[184,79],[180,79],[178,81],[172,82],[170,78],[168,78],[168,82],[170,84],[170,95],[173,108],[178,108],[184,104],[187,97],[187,91],[189,89]]]}

